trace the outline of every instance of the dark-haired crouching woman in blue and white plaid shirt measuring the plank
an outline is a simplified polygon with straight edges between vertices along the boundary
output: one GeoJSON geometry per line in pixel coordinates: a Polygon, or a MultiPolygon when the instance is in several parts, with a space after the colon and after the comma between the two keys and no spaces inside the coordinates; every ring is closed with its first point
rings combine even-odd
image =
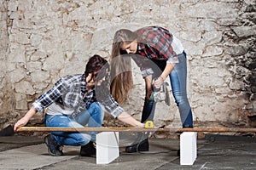
{"type": "MultiPolygon", "coordinates": [[[[15,123],[14,130],[25,126],[38,111],[45,109],[46,127],[101,127],[104,108],[114,118],[133,127],[144,127],[125,112],[113,99],[108,88],[108,61],[99,55],[92,56],[84,74],[62,77],[53,88],[41,95],[32,108],[15,123]]],[[[51,132],[44,138],[51,156],[62,156],[61,146],[81,146],[81,156],[95,156],[93,142],[96,132],[67,133],[51,132]]]]}

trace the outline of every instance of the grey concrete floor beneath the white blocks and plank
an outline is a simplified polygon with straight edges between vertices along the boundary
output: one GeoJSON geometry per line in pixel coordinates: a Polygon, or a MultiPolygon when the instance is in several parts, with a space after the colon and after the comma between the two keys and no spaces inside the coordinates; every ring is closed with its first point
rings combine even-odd
{"type": "Polygon", "coordinates": [[[149,139],[150,150],[125,153],[129,144],[120,135],[119,157],[106,165],[95,157],[79,156],[79,147],[65,146],[65,156],[49,156],[43,137],[0,137],[0,169],[256,169],[256,139],[244,136],[210,135],[197,140],[194,165],[180,165],[179,139],[149,139]]]}

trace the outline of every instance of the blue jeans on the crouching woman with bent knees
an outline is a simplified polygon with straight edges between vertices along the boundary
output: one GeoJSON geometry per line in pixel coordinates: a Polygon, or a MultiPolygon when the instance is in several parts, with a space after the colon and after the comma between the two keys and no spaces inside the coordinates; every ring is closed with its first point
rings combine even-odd
{"type": "MultiPolygon", "coordinates": [[[[95,102],[89,108],[79,113],[78,116],[72,117],[67,115],[45,115],[46,127],[102,127],[104,110],[102,105],[95,102]]],[[[68,133],[68,132],[51,132],[58,145],[80,146],[95,141],[97,132],[88,133],[68,133]]]]}

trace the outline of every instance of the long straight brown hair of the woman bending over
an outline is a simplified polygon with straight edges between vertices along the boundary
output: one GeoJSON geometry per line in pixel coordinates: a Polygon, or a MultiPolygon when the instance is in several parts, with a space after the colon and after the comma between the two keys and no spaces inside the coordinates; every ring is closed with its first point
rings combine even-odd
{"type": "Polygon", "coordinates": [[[110,91],[113,98],[120,104],[128,99],[129,92],[133,88],[131,57],[126,57],[128,54],[121,47],[124,43],[131,43],[136,39],[137,34],[126,29],[116,31],[113,37],[110,91]]]}

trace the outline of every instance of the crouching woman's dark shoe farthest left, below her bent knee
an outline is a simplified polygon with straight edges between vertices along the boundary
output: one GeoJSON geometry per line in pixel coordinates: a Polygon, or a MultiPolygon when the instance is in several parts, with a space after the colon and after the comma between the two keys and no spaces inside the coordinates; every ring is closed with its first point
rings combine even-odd
{"type": "Polygon", "coordinates": [[[44,143],[48,147],[49,155],[51,156],[63,156],[63,152],[61,150],[61,146],[57,144],[57,141],[54,137],[49,134],[44,138],[44,143]]]}

